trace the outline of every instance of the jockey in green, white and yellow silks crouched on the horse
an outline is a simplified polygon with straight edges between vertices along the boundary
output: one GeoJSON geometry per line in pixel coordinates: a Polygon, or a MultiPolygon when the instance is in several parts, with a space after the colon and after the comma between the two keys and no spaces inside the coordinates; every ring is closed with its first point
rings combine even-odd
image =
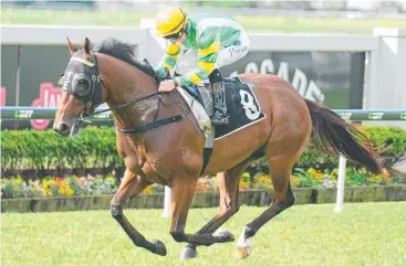
{"type": "Polygon", "coordinates": [[[175,66],[175,78],[160,82],[160,92],[177,86],[190,87],[209,77],[215,97],[215,125],[227,125],[228,114],[219,67],[242,58],[250,40],[242,26],[222,14],[188,17],[181,8],[170,8],[156,15],[157,35],[169,41],[157,67],[160,78],[175,66]],[[186,51],[181,54],[181,51],[186,51]]]}

